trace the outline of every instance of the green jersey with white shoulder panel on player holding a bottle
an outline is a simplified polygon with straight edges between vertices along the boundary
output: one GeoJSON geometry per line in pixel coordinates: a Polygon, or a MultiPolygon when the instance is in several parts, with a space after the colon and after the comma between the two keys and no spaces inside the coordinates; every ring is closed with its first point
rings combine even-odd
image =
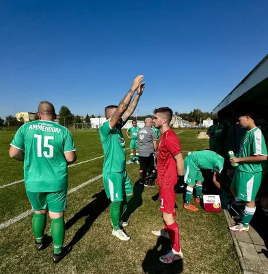
{"type": "MultiPolygon", "coordinates": [[[[265,138],[258,127],[245,133],[239,149],[239,158],[252,157],[254,155],[267,155],[265,138]]],[[[237,169],[247,173],[258,173],[263,171],[261,162],[241,162],[239,163],[239,166],[237,166],[237,169]]]]}

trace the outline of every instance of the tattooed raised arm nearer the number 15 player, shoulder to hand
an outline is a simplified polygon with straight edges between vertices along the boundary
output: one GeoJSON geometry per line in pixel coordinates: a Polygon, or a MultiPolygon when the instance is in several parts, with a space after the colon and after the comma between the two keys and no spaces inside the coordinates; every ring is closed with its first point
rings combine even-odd
{"type": "Polygon", "coordinates": [[[129,90],[129,92],[126,93],[126,96],[122,99],[122,101],[120,101],[116,112],[113,114],[113,116],[111,116],[109,123],[111,128],[115,128],[116,125],[118,125],[118,121],[120,121],[122,115],[129,107],[129,103],[131,102],[134,92],[137,90],[137,88],[139,88],[139,83],[142,82],[143,79],[144,75],[139,75],[134,79],[132,88],[129,90]]]}

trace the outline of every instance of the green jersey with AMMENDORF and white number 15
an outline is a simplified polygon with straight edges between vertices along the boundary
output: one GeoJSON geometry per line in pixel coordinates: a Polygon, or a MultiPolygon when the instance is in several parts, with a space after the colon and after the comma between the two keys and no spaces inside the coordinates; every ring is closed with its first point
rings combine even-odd
{"type": "Polygon", "coordinates": [[[25,152],[26,190],[57,192],[68,188],[68,163],[64,153],[76,149],[66,127],[43,120],[25,123],[10,145],[25,152]]]}

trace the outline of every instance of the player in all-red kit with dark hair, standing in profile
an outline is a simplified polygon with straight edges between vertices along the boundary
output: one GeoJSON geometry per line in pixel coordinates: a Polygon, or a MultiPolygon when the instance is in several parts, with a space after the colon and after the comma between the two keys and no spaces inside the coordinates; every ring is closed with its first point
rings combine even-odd
{"type": "Polygon", "coordinates": [[[183,182],[184,161],[180,148],[180,140],[175,132],[170,129],[173,112],[170,108],[157,108],[154,111],[155,127],[160,129],[161,139],[157,152],[157,184],[160,187],[160,211],[163,213],[164,229],[153,230],[156,236],[170,238],[172,250],[161,256],[159,260],[170,264],[174,260],[183,258],[180,249],[180,235],[175,221],[175,191],[176,184],[183,182]]]}

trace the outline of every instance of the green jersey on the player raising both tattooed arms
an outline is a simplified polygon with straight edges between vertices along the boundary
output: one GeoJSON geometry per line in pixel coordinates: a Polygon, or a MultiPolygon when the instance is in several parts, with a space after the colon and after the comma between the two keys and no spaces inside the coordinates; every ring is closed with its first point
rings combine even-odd
{"type": "Polygon", "coordinates": [[[124,136],[122,134],[123,119],[120,125],[111,129],[107,120],[100,127],[100,140],[103,145],[103,153],[105,155],[103,172],[122,172],[126,169],[126,149],[124,136]]]}

